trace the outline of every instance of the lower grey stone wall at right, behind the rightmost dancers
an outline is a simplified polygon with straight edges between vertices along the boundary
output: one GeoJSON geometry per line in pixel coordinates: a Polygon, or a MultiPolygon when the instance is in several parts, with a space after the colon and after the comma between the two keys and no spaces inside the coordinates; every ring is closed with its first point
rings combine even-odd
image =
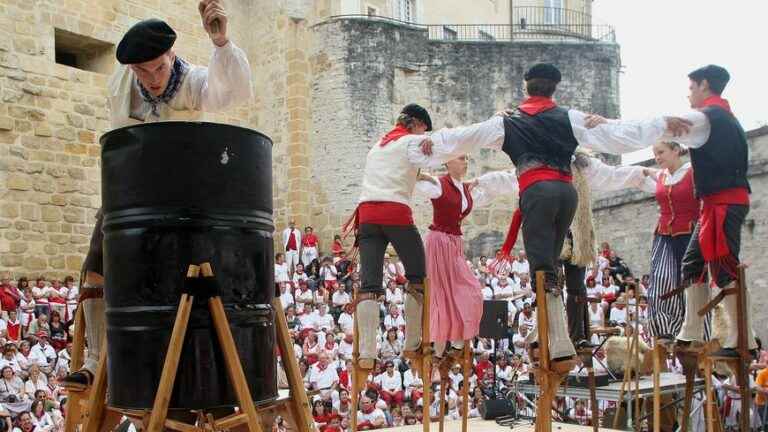
{"type": "MultiPolygon", "coordinates": [[[[747,278],[752,292],[754,328],[768,340],[768,127],[748,133],[750,141],[749,181],[752,197],[749,215],[742,230],[741,259],[749,265],[747,278]]],[[[595,202],[595,224],[600,241],[607,241],[637,275],[648,273],[653,230],[658,209],[651,194],[623,191],[595,202]]]]}

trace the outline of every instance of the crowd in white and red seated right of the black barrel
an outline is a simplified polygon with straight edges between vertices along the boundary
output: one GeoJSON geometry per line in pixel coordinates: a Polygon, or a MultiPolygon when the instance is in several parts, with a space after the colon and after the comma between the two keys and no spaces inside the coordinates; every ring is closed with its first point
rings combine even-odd
{"type": "MultiPolygon", "coordinates": [[[[275,281],[288,317],[296,359],[311,395],[315,422],[321,431],[338,432],[347,430],[350,410],[355,409],[350,406],[349,395],[354,325],[352,294],[360,284],[360,268],[346,256],[343,248],[335,245],[333,250],[329,256],[320,253],[306,266],[299,263],[294,268],[289,268],[283,254],[278,253],[275,281]]],[[[384,261],[385,295],[379,299],[379,356],[357,407],[360,429],[421,423],[424,403],[430,405],[430,417],[434,421],[440,408],[434,396],[429,401],[423,400],[425,383],[414,375],[409,361],[401,356],[407,325],[403,313],[405,269],[395,257],[386,255],[384,261]]],[[[481,406],[489,397],[507,397],[515,402],[519,412],[533,415],[530,403],[533,396],[517,392],[516,386],[531,379],[526,337],[536,323],[536,296],[531,288],[526,254],[518,251],[511,263],[502,264],[495,257],[480,257],[474,262],[467,261],[467,265],[475,272],[484,299],[507,302],[508,334],[500,340],[478,337],[472,341],[468,383],[463,382],[460,364],[451,368],[446,417],[461,417],[464,385],[469,386],[470,417],[480,416],[481,406]]],[[[594,332],[591,341],[595,345],[609,334],[630,335],[635,329],[651,344],[645,325],[648,283],[648,275],[636,278],[616,251],[608,244],[601,245],[585,280],[590,328],[604,330],[594,332]]],[[[599,351],[597,357],[605,360],[605,352],[599,351]]],[[[763,360],[768,361],[768,355],[763,360]]],[[[596,363],[597,373],[604,371],[605,364],[605,361],[596,363]]],[[[756,363],[754,369],[761,369],[761,365],[756,363]]],[[[677,363],[670,363],[669,367],[672,371],[681,371],[677,363]]],[[[719,378],[724,377],[716,377],[721,402],[736,397],[736,388],[719,378]]],[[[286,385],[284,377],[280,382],[286,385]]],[[[768,370],[757,375],[756,383],[758,394],[766,394],[762,388],[768,389],[768,370]]],[[[426,385],[431,386],[432,395],[439,395],[440,376],[436,369],[426,385]]],[[[764,396],[758,397],[756,403],[756,406],[768,407],[764,396]]],[[[573,398],[559,398],[558,404],[563,413],[561,420],[583,425],[591,424],[592,409],[599,410],[599,417],[603,417],[616,408],[613,402],[599,401],[597,407],[592,407],[588,400],[573,398]]],[[[724,413],[729,426],[736,425],[738,413],[734,411],[732,408],[724,413]]],[[[280,430],[281,426],[276,424],[275,429],[280,430]]]]}

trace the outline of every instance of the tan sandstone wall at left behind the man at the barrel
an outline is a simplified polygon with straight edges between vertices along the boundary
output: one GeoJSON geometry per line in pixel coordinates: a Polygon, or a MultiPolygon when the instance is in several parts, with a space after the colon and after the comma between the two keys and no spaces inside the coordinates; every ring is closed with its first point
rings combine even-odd
{"type": "MultiPolygon", "coordinates": [[[[260,15],[248,2],[230,3],[231,37],[254,51],[258,27],[245,17],[260,15]]],[[[98,72],[56,63],[55,29],[115,45],[153,16],[179,33],[180,56],[208,63],[212,44],[196,1],[0,0],[0,270],[76,274],[101,204],[98,139],[109,129],[105,90],[114,60],[98,72]]],[[[258,124],[251,112],[208,118],[258,124]]]]}

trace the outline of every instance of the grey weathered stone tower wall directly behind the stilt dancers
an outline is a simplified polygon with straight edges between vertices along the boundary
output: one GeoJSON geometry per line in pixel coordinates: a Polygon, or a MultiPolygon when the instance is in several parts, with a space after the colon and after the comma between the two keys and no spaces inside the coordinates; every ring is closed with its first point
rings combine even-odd
{"type": "MultiPolygon", "coordinates": [[[[563,72],[559,103],[618,115],[619,49],[593,43],[467,43],[428,41],[418,28],[368,20],[332,20],[314,26],[310,141],[311,182],[321,191],[311,220],[325,238],[354,209],[365,156],[409,102],[424,105],[435,128],[487,119],[522,98],[522,75],[533,63],[563,72]]],[[[509,167],[500,152],[472,155],[470,176],[509,167]]],[[[469,254],[498,247],[513,197],[477,209],[465,224],[469,254]]],[[[431,206],[416,200],[419,227],[431,206]]],[[[301,222],[300,222],[301,223],[301,222]]]]}

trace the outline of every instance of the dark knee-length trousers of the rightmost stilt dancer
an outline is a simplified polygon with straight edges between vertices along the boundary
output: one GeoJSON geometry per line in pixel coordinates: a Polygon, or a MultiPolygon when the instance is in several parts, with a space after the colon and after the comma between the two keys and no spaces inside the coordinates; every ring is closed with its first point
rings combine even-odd
{"type": "MultiPolygon", "coordinates": [[[[749,206],[729,205],[725,215],[723,230],[728,242],[728,249],[731,251],[731,257],[735,263],[739,263],[739,252],[741,250],[741,227],[749,213],[749,206]]],[[[701,224],[697,224],[691,235],[691,241],[688,243],[688,249],[685,250],[682,263],[683,281],[690,282],[698,280],[702,275],[706,276],[706,262],[701,255],[701,246],[699,245],[699,230],[701,224]]],[[[717,274],[713,275],[715,283],[720,288],[725,288],[736,280],[734,269],[726,269],[723,266],[717,267],[717,274]]]]}

